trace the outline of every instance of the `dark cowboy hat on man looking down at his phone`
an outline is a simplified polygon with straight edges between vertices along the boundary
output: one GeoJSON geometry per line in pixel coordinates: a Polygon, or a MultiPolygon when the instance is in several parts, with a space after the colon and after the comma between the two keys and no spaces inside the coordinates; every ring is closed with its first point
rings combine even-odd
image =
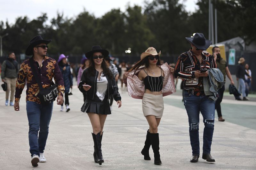
{"type": "Polygon", "coordinates": [[[196,48],[206,50],[212,44],[211,40],[206,40],[203,33],[196,33],[194,37],[186,37],[196,48]]]}

